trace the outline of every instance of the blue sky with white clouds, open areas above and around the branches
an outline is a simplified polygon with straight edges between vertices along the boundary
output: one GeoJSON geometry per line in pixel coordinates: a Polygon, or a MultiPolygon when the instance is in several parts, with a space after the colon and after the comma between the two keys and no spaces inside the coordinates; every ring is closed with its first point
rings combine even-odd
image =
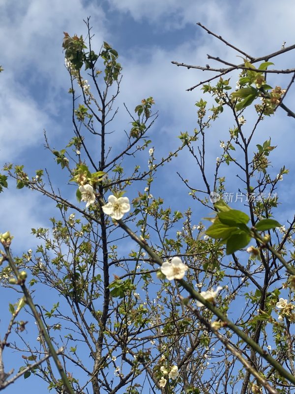
{"type": "MultiPolygon", "coordinates": [[[[91,16],[92,32],[95,33],[92,45],[100,48],[105,40],[120,55],[123,79],[118,105],[125,102],[133,110],[141,99],[148,96],[155,99],[159,119],[150,136],[155,157],[160,158],[176,148],[180,131],[193,131],[196,127],[194,103],[203,94],[200,90],[188,93],[185,89],[207,77],[202,71],[183,69],[172,65],[171,61],[206,65],[209,53],[236,62],[236,53],[202,31],[196,22],[221,34],[252,56],[261,56],[280,49],[284,41],[286,45],[294,43],[294,14],[293,0],[2,0],[1,166],[13,162],[25,164],[31,170],[45,166],[56,169],[43,148],[43,129],[57,149],[64,147],[72,131],[71,103],[67,93],[69,78],[61,48],[62,32],[86,35],[83,19],[88,16],[91,16]]],[[[293,58],[293,53],[289,53],[275,59],[276,68],[292,66],[293,58]]],[[[283,84],[284,78],[281,79],[283,84]]],[[[292,108],[293,102],[294,88],[285,103],[292,108]]],[[[250,121],[249,118],[248,124],[250,121]]],[[[129,122],[126,112],[120,108],[112,127],[128,130],[129,122]]],[[[207,147],[207,154],[213,162],[221,155],[219,140],[225,139],[228,126],[229,117],[225,115],[210,131],[212,142],[207,147]]],[[[273,173],[276,174],[283,164],[294,170],[293,120],[278,110],[276,117],[266,120],[259,133],[255,143],[271,136],[272,145],[280,146],[278,152],[273,152],[273,173]]],[[[118,148],[120,139],[110,139],[110,143],[118,148]]],[[[147,160],[145,154],[143,161],[147,160]]],[[[185,178],[196,179],[197,183],[199,174],[190,163],[189,158],[180,155],[170,164],[168,172],[159,174],[161,179],[156,183],[153,195],[166,193],[170,196],[167,204],[184,210],[183,201],[185,204],[190,202],[187,191],[177,180],[176,171],[185,178]]],[[[282,200],[286,202],[277,218],[282,224],[293,215],[294,171],[286,179],[288,181],[280,184],[282,200]]],[[[58,184],[59,178],[55,181],[58,184]]],[[[234,188],[235,180],[230,179],[229,184],[234,188]]],[[[10,230],[15,236],[15,251],[33,248],[36,241],[30,235],[30,229],[48,226],[48,217],[55,204],[28,190],[16,191],[12,182],[9,190],[0,195],[0,203],[0,231],[10,230]]],[[[199,219],[202,216],[200,214],[199,219]]],[[[7,393],[15,392],[19,384],[8,389],[7,393]]],[[[27,393],[26,389],[23,392],[27,393]]]]}

